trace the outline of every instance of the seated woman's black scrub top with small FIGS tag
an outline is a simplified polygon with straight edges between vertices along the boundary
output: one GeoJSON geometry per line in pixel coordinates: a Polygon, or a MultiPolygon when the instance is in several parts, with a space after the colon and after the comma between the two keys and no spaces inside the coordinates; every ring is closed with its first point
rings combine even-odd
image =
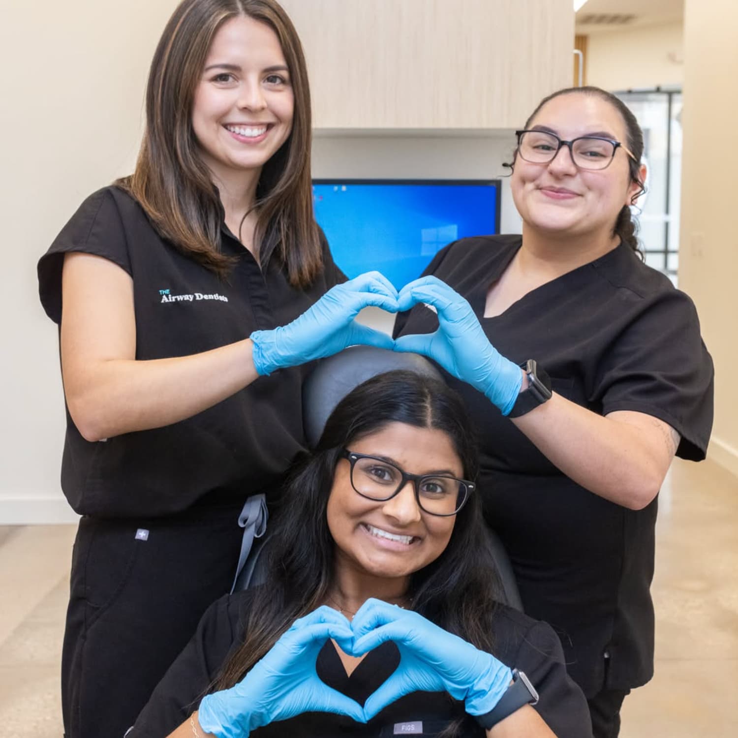
{"type": "MultiPolygon", "coordinates": [[[[243,642],[254,591],[225,596],[210,606],[126,738],[164,738],[198,708],[232,649],[243,642]]],[[[496,644],[494,655],[525,672],[539,693],[535,709],[551,730],[559,738],[591,738],[587,703],[566,673],[561,646],[551,628],[502,605],[493,613],[490,627],[496,644]]],[[[334,645],[327,641],[318,655],[316,670],[328,686],[364,704],[398,664],[399,651],[390,641],[369,652],[349,677],[334,645]]],[[[445,692],[413,692],[384,708],[366,725],[350,717],[312,712],[266,725],[253,731],[252,737],[434,736],[455,720],[463,721],[461,736],[485,735],[466,714],[463,703],[445,692]]]]}

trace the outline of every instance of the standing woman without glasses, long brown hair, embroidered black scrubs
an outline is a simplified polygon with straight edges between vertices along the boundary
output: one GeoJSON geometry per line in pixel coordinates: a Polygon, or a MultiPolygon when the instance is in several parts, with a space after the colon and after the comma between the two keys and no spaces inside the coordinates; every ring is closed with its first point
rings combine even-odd
{"type": "Polygon", "coordinates": [[[306,362],[392,343],[354,323],[396,292],[376,274],[339,284],[310,145],[305,60],[277,2],[184,0],[151,64],[134,173],[84,201],[39,263],[61,330],[62,486],[83,516],[67,738],[123,735],[230,589],[239,513],[263,525],[304,447],[306,362]]]}

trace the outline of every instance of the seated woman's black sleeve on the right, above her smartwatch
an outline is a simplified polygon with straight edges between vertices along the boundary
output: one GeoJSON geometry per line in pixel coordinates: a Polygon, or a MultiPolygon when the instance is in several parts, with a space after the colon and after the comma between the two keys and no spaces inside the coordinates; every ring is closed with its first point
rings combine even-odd
{"type": "Polygon", "coordinates": [[[559,638],[547,623],[535,623],[523,637],[513,665],[538,692],[535,710],[558,738],[592,738],[584,693],[566,671],[559,638]]]}

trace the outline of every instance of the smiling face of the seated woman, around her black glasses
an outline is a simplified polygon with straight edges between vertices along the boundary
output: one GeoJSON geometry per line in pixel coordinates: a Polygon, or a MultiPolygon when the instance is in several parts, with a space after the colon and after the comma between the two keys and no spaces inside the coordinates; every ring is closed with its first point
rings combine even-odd
{"type": "MultiPolygon", "coordinates": [[[[390,423],[349,444],[351,451],[385,458],[410,474],[463,477],[463,465],[441,430],[390,423]]],[[[336,542],[339,578],[407,579],[440,556],[455,517],[430,515],[418,507],[413,483],[391,500],[376,502],[351,486],[351,464],[338,462],[328,498],[328,528],[336,542]]]]}

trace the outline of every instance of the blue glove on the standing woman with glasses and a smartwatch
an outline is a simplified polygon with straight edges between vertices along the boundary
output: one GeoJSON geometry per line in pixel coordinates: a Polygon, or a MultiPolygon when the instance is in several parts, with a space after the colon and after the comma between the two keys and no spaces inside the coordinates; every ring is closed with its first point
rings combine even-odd
{"type": "Polygon", "coordinates": [[[438,277],[421,277],[400,290],[400,310],[427,303],[438,312],[438,331],[402,336],[395,351],[423,354],[468,382],[507,415],[523,384],[520,367],[489,342],[472,306],[438,277]]]}

